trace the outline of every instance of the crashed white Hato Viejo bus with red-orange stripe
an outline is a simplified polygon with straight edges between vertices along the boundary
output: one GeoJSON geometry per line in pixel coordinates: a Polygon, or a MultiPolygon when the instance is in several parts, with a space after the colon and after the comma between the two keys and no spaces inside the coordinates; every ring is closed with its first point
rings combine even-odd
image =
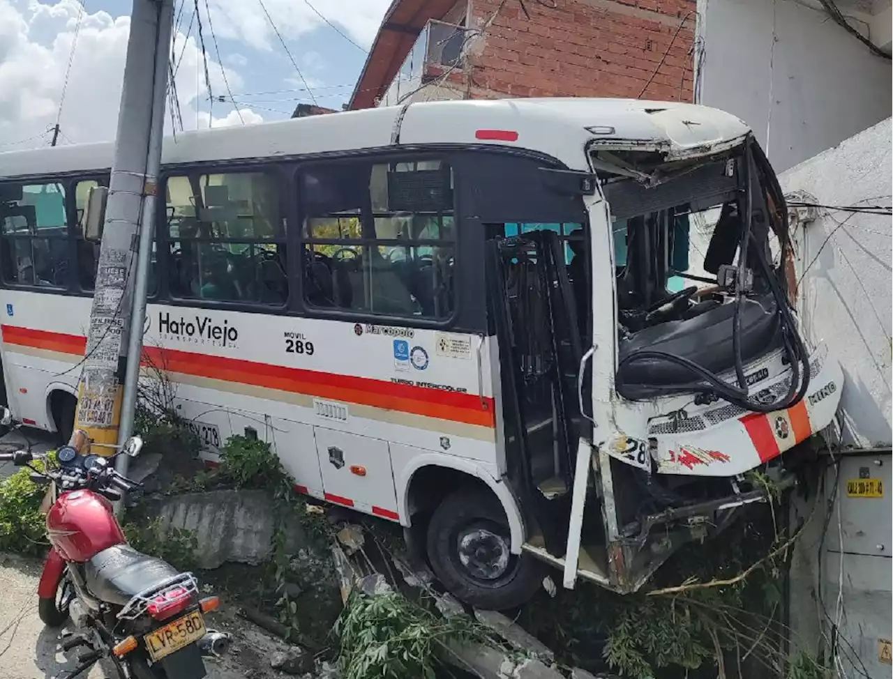
{"type": "MultiPolygon", "coordinates": [[[[0,154],[6,399],[63,436],[112,157],[0,154]]],[[[764,499],[745,472],[786,479],[839,400],[791,313],[772,169],[723,112],[345,112],[168,139],[160,186],[146,354],[208,459],[255,432],[476,606],[526,600],[544,562],[637,590],[764,499]]]]}

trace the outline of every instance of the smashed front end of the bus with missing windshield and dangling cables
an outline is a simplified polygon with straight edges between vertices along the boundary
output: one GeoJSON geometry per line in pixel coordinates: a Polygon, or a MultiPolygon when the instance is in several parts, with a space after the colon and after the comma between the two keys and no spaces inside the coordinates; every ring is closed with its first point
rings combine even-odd
{"type": "Polygon", "coordinates": [[[709,120],[647,112],[667,117],[663,139],[593,128],[605,134],[588,148],[601,195],[589,204],[592,342],[580,375],[592,380],[580,379],[580,402],[591,385],[599,501],[580,487],[581,446],[566,586],[579,568],[636,591],[680,544],[765,501],[748,472],[792,484],[781,453],[830,424],[842,386],[839,363],[799,331],[786,204],[754,137],[697,143],[709,120]],[[580,547],[592,506],[605,531],[595,551],[580,547]]]}

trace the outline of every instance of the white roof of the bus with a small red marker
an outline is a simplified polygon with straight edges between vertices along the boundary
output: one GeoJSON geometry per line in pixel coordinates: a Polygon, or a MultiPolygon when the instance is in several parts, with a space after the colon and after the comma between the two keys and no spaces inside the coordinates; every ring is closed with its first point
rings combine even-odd
{"type": "MultiPolygon", "coordinates": [[[[162,163],[471,144],[530,149],[586,170],[583,149],[592,143],[697,156],[749,131],[730,113],[695,104],[557,97],[420,102],[181,133],[165,138],[162,163]]],[[[0,153],[0,178],[107,171],[113,151],[113,142],[102,142],[0,153]]]]}

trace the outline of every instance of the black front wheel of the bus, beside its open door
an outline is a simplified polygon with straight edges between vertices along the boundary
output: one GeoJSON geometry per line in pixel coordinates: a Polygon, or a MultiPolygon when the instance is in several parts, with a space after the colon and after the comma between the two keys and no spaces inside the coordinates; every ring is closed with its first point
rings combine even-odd
{"type": "Polygon", "coordinates": [[[428,558],[440,582],[478,609],[521,606],[537,592],[543,565],[511,553],[511,532],[496,496],[460,489],[440,503],[428,524],[428,558]]]}

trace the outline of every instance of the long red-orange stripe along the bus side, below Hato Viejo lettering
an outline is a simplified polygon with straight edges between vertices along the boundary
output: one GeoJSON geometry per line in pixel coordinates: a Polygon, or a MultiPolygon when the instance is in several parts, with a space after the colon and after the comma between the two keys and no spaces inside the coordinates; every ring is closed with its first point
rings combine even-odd
{"type": "MultiPolygon", "coordinates": [[[[83,355],[87,340],[26,327],[0,326],[4,342],[36,349],[83,355]]],[[[230,359],[176,349],[146,347],[146,359],[155,367],[194,377],[302,393],[332,401],[355,403],[383,410],[448,419],[464,424],[496,426],[494,402],[471,393],[447,392],[416,385],[398,385],[370,377],[286,368],[252,360],[230,359]]]]}

